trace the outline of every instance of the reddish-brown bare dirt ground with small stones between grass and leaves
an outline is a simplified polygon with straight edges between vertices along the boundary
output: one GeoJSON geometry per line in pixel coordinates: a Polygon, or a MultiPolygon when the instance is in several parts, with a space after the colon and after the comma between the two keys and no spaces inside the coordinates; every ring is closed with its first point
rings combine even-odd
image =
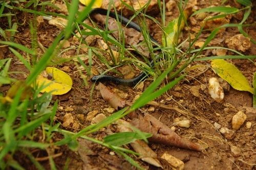
{"type": "MultiPolygon", "coordinates": [[[[220,2],[221,1],[211,2],[198,0],[197,7],[198,9],[201,9],[209,7],[210,5],[218,6],[221,4],[220,2]]],[[[255,23],[256,1],[252,1],[252,3],[253,8],[246,23],[255,23]]],[[[56,1],[55,4],[62,4],[62,2],[56,1]]],[[[242,6],[234,1],[227,1],[225,5],[242,8],[242,6]]],[[[51,7],[47,7],[47,10],[53,11],[51,7]]],[[[65,13],[63,11],[57,12],[65,13]]],[[[167,10],[167,12],[166,20],[169,21],[177,17],[179,11],[177,7],[174,7],[173,9],[167,10]]],[[[243,13],[238,13],[229,16],[227,20],[229,23],[239,23],[242,20],[242,14],[243,13]]],[[[149,15],[157,19],[160,18],[159,14],[149,13],[149,15]]],[[[26,46],[31,45],[30,28],[28,25],[29,19],[31,19],[30,17],[32,18],[33,16],[24,12],[19,12],[19,15],[17,15],[17,19],[20,22],[25,21],[26,24],[24,26],[19,26],[19,32],[17,33],[15,41],[26,46]]],[[[189,27],[184,29],[181,40],[187,38],[186,36],[188,35],[188,31],[193,34],[200,28],[200,19],[201,18],[198,16],[193,16],[188,19],[189,27]]],[[[4,23],[1,22],[0,24],[1,28],[3,28],[4,23]]],[[[158,41],[161,41],[162,33],[159,26],[154,25],[154,22],[150,20],[148,20],[148,24],[149,30],[152,30],[151,35],[158,41]]],[[[212,24],[214,25],[215,23],[212,24]]],[[[256,26],[244,28],[244,31],[254,40],[256,40],[255,30],[256,26]]],[[[48,47],[59,32],[59,28],[49,25],[48,21],[44,20],[42,25],[38,26],[37,40],[42,44],[42,46],[48,47]]],[[[220,32],[210,45],[230,47],[228,46],[230,43],[225,40],[237,34],[240,34],[237,28],[227,28],[220,32]]],[[[208,35],[209,32],[203,32],[203,35],[200,36],[199,40],[205,40],[208,35]]],[[[69,41],[71,45],[77,45],[79,43],[73,38],[70,38],[69,41]]],[[[238,50],[236,45],[233,45],[232,47],[235,48],[235,50],[238,50]]],[[[244,51],[241,51],[240,49],[240,52],[245,55],[256,55],[256,44],[250,42],[250,47],[247,48],[245,46],[245,48],[246,49],[244,51]]],[[[57,58],[56,61],[61,58],[74,57],[77,54],[76,50],[76,48],[73,48],[73,50],[62,53],[58,56],[59,58],[57,58]]],[[[218,52],[219,51],[210,50],[204,52],[204,54],[206,56],[216,56],[218,55],[218,52]]],[[[28,72],[26,71],[25,66],[20,64],[18,59],[7,49],[4,50],[2,48],[1,53],[5,58],[14,58],[10,71],[28,72]]],[[[38,53],[42,53],[41,48],[39,47],[38,53]]],[[[86,54],[85,52],[80,53],[86,54]]],[[[233,53],[227,52],[226,55],[233,55],[233,53]]],[[[248,60],[241,59],[230,59],[227,61],[236,65],[242,71],[243,75],[245,75],[250,84],[252,84],[253,74],[256,71],[255,64],[248,60]]],[[[256,59],[253,59],[253,61],[255,62],[256,59]]],[[[88,60],[84,60],[84,63],[88,64],[88,60]]],[[[98,70],[98,68],[106,68],[99,60],[95,59],[93,63],[94,70],[98,70]]],[[[209,64],[209,61],[201,63],[195,62],[193,64],[209,64]]],[[[92,91],[93,83],[90,81],[91,77],[88,77],[88,85],[83,84],[82,77],[77,69],[79,66],[75,65],[73,61],[63,63],[57,67],[68,72],[73,79],[73,89],[71,91],[67,94],[55,95],[53,97],[53,102],[56,100],[59,101],[56,123],[61,123],[60,127],[62,129],[77,132],[91,124],[92,120],[91,118],[88,118],[88,114],[95,113],[94,116],[96,116],[97,114],[103,113],[108,116],[113,113],[110,109],[110,105],[101,98],[97,87],[92,91]]],[[[82,70],[82,72],[84,75],[87,75],[86,70],[82,70]]],[[[138,72],[135,72],[135,74],[138,74],[138,72]]],[[[218,103],[213,100],[208,93],[208,80],[212,77],[219,78],[212,69],[191,71],[184,80],[155,100],[155,102],[159,104],[179,108],[183,110],[185,114],[181,114],[173,109],[164,109],[162,107],[151,105],[146,105],[141,108],[155,116],[170,128],[173,127],[173,122],[177,117],[183,116],[189,119],[189,128],[174,126],[176,129],[175,132],[194,142],[204,143],[208,148],[203,153],[200,153],[158,143],[150,143],[149,145],[153,151],[157,153],[158,157],[161,157],[164,153],[168,153],[182,160],[185,163],[184,169],[186,170],[256,169],[256,110],[252,108],[252,94],[246,91],[235,90],[224,82],[222,84],[226,87],[224,89],[224,102],[218,103]],[[238,111],[244,112],[247,118],[243,126],[236,131],[232,129],[231,118],[238,111]],[[221,133],[221,128],[228,128],[230,131],[229,133],[221,133]]],[[[20,76],[20,74],[13,75],[13,78],[25,79],[26,74],[22,74],[22,76],[20,76]]],[[[145,80],[143,89],[151,83],[152,79],[145,80]]],[[[126,100],[131,102],[135,99],[136,95],[141,93],[141,89],[116,86],[110,83],[105,83],[105,85],[111,89],[119,90],[119,92],[121,91],[126,94],[126,100]]],[[[1,92],[6,92],[8,88],[9,86],[1,87],[1,92]]],[[[102,139],[106,134],[108,134],[108,129],[111,129],[111,127],[104,128],[97,133],[91,134],[91,137],[102,139]]],[[[61,138],[62,136],[56,133],[53,139],[58,141],[61,138]]],[[[62,153],[60,156],[54,158],[58,169],[63,169],[65,166],[68,167],[68,169],[135,169],[124,158],[116,153],[113,154],[108,148],[83,139],[79,139],[79,143],[82,144],[83,147],[86,147],[90,152],[84,153],[81,150],[73,152],[70,151],[67,146],[55,149],[55,154],[62,153]]],[[[130,145],[126,145],[126,148],[130,148],[130,145]]],[[[37,153],[37,157],[44,156],[47,156],[47,152],[40,151],[37,153]]],[[[161,169],[145,163],[133,155],[131,156],[145,169],[161,169]]],[[[22,162],[26,169],[34,169],[30,162],[24,160],[22,157],[18,157],[18,155],[17,160],[22,162]]],[[[41,163],[46,169],[50,168],[47,160],[41,161],[41,163]]],[[[165,167],[167,168],[167,166],[165,167]]]]}

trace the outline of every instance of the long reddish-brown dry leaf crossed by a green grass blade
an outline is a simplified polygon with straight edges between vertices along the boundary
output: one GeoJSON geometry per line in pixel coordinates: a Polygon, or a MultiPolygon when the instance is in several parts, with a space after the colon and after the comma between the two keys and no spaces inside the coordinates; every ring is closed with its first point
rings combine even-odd
{"type": "MultiPolygon", "coordinates": [[[[106,100],[106,102],[108,102],[112,107],[118,109],[123,108],[124,106],[131,106],[129,102],[126,102],[119,95],[114,93],[110,88],[104,86],[101,83],[99,84],[99,89],[102,98],[106,100]]],[[[137,127],[142,132],[153,134],[153,136],[148,139],[152,142],[163,143],[199,152],[202,152],[204,150],[201,145],[182,138],[150,114],[131,112],[127,116],[133,119],[131,122],[133,126],[137,127]]]]}

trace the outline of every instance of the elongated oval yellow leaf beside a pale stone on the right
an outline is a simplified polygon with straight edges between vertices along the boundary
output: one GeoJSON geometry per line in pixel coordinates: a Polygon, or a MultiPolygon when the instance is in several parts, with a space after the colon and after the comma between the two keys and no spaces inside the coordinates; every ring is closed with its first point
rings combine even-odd
{"type": "Polygon", "coordinates": [[[233,64],[223,59],[215,59],[211,61],[211,67],[234,89],[254,93],[253,88],[249,85],[242,72],[233,64]]]}

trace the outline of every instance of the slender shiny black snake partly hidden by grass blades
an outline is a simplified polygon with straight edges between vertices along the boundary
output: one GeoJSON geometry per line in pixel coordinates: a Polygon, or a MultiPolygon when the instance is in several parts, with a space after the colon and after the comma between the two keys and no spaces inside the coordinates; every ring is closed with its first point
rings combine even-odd
{"type": "MultiPolygon", "coordinates": [[[[126,25],[129,28],[133,28],[138,32],[141,32],[140,26],[137,25],[137,23],[130,21],[129,19],[116,14],[112,11],[108,11],[106,9],[102,9],[102,8],[94,8],[92,9],[92,11],[90,12],[90,15],[93,14],[101,14],[101,15],[109,15],[110,17],[114,18],[114,19],[118,19],[123,25],[126,25]]],[[[155,40],[152,36],[149,36],[150,39],[155,42],[156,44],[159,44],[159,42],[157,40],[155,40]]],[[[152,59],[150,61],[150,64],[153,65],[154,60],[152,59]]],[[[114,77],[114,76],[110,76],[110,75],[98,75],[98,76],[94,76],[92,77],[91,81],[93,82],[112,82],[115,83],[117,85],[125,85],[125,86],[134,86],[137,83],[139,83],[140,81],[144,80],[147,77],[146,72],[141,72],[138,76],[136,76],[133,79],[122,79],[122,78],[118,78],[118,77],[114,77]]]]}

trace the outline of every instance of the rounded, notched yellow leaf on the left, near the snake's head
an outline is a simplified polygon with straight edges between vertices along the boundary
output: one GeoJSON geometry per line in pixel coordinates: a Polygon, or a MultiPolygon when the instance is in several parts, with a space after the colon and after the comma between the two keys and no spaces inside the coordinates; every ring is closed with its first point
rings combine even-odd
{"type": "Polygon", "coordinates": [[[36,79],[38,86],[47,85],[47,87],[40,92],[51,92],[54,95],[61,95],[67,93],[71,89],[73,82],[66,72],[54,67],[46,67],[46,72],[52,76],[54,81],[38,76],[36,79]]]}

